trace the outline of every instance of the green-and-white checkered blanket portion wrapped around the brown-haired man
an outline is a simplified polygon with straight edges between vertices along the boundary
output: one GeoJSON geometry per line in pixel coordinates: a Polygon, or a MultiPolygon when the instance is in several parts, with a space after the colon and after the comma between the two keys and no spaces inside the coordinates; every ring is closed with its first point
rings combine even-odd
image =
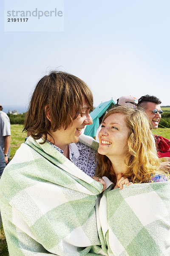
{"type": "MultiPolygon", "coordinates": [[[[98,143],[86,137],[86,144],[98,143]]],[[[102,185],[50,143],[28,138],[0,180],[0,209],[10,256],[82,256],[101,251],[95,202],[102,185]]],[[[84,141],[84,140],[83,140],[84,141]]]]}

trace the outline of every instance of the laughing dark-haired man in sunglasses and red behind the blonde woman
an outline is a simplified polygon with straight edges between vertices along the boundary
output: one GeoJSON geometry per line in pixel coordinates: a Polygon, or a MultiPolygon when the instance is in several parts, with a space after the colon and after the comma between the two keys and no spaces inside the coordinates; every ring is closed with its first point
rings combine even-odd
{"type": "MultiPolygon", "coordinates": [[[[163,111],[160,107],[161,101],[156,96],[144,95],[138,100],[139,107],[142,107],[150,120],[151,128],[157,129],[163,111]]],[[[170,140],[154,134],[158,157],[166,157],[166,162],[161,163],[161,168],[170,171],[170,140]]]]}

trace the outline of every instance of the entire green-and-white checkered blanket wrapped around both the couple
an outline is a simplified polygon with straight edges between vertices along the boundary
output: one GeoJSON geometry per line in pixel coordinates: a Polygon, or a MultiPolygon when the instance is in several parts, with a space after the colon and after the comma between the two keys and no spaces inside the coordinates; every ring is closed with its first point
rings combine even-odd
{"type": "Polygon", "coordinates": [[[29,137],[0,180],[10,256],[170,255],[169,181],[111,190],[106,178],[100,194],[100,183],[40,141],[29,137]]]}

